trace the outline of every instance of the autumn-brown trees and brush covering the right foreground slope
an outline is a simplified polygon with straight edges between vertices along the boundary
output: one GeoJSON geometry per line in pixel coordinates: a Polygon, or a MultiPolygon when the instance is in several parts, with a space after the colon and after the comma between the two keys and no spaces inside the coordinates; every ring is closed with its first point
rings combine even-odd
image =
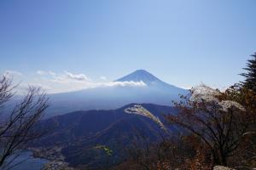
{"type": "Polygon", "coordinates": [[[179,113],[166,119],[184,129],[177,139],[146,144],[113,169],[207,170],[216,165],[256,167],[256,54],[244,82],[220,92],[201,85],[175,103],[179,113]]]}

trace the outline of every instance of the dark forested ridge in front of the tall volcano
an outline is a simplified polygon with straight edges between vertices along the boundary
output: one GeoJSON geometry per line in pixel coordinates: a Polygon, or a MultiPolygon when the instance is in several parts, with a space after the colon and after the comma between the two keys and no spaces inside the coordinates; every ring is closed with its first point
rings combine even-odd
{"type": "Polygon", "coordinates": [[[50,152],[59,150],[74,167],[101,169],[102,165],[122,161],[128,151],[124,148],[144,147],[147,142],[157,142],[170,135],[173,138],[177,128],[168,125],[164,115],[176,113],[170,106],[130,104],[117,110],[76,111],[54,116],[39,123],[38,128],[48,133],[34,147],[50,148],[50,152]],[[108,147],[111,155],[106,155],[99,146],[108,147]]]}

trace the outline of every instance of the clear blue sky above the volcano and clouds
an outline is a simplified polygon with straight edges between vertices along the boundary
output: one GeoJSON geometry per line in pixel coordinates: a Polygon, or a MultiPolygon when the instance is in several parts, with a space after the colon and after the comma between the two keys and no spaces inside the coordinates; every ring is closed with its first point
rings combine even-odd
{"type": "Polygon", "coordinates": [[[2,0],[0,71],[49,88],[49,71],[108,82],[137,69],[179,87],[224,88],[241,81],[256,52],[255,7],[254,0],[2,0]]]}

